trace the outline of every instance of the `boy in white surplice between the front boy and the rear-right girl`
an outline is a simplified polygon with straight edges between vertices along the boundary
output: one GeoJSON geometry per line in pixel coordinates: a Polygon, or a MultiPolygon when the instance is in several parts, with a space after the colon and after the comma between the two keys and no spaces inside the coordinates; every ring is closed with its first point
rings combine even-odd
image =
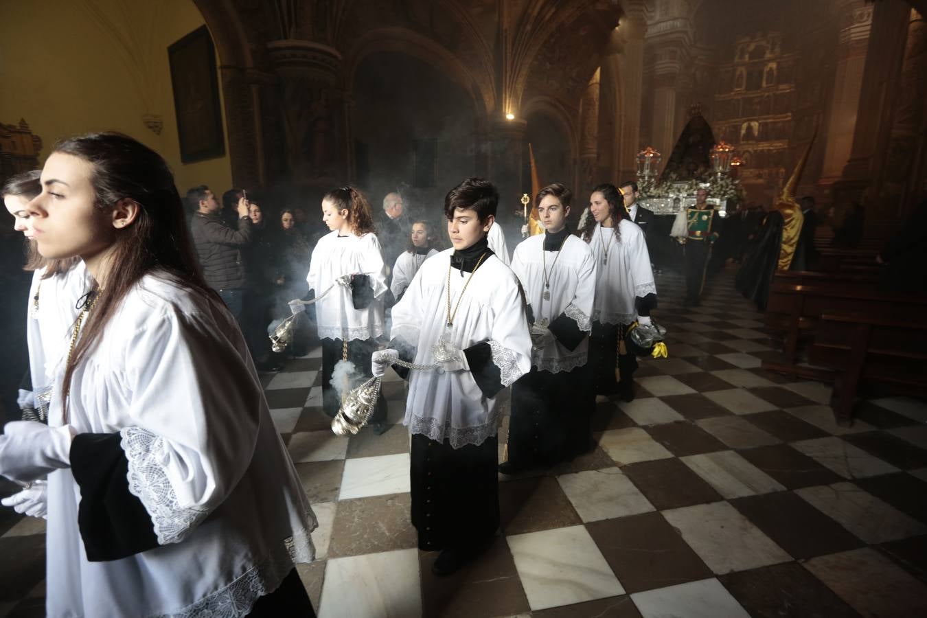
{"type": "Polygon", "coordinates": [[[572,195],[559,183],[540,190],[535,204],[545,232],[522,241],[512,257],[534,316],[534,349],[531,372],[512,386],[509,459],[499,466],[506,474],[572,460],[590,446],[586,360],[596,261],[566,227],[572,195]]]}

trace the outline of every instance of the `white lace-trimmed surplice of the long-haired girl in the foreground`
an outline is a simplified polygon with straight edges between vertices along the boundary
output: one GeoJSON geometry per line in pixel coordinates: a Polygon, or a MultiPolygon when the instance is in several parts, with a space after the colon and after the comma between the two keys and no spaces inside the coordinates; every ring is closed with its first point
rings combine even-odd
{"type": "Polygon", "coordinates": [[[87,561],[79,487],[68,468],[49,474],[47,615],[241,616],[313,559],[315,517],[220,301],[144,277],[75,370],[68,422],[121,435],[159,547],[87,561]]]}

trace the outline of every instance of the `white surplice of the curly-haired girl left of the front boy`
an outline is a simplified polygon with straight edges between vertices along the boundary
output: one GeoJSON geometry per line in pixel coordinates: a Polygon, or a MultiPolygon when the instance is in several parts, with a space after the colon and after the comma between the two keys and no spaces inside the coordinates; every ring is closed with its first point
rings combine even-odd
{"type": "Polygon", "coordinates": [[[312,249],[306,282],[315,296],[322,296],[344,274],[365,274],[374,289],[374,301],[366,309],[354,309],[348,286],[331,288],[315,303],[321,339],[372,339],[383,334],[383,295],[387,270],[376,234],[339,236],[326,233],[312,249]]]}

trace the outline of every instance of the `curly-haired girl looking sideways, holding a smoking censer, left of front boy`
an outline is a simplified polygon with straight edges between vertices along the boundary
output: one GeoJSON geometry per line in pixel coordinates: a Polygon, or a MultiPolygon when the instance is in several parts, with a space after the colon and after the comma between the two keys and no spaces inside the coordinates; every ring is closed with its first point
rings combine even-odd
{"type": "MultiPolygon", "coordinates": [[[[318,297],[323,408],[334,417],[346,389],[371,371],[370,355],[376,337],[383,334],[383,301],[389,288],[367,198],[353,187],[329,191],[322,198],[322,221],[331,232],[312,249],[306,281],[318,297]],[[339,360],[352,362],[355,372],[336,374],[339,360]]],[[[305,305],[293,301],[290,308],[300,311],[305,305]]],[[[375,433],[386,431],[386,420],[387,402],[381,396],[370,419],[375,433]]]]}

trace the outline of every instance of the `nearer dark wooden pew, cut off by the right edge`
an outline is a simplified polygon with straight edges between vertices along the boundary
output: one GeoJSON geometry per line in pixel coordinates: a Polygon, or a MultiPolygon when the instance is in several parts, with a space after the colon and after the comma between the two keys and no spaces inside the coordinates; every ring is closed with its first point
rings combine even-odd
{"type": "Polygon", "coordinates": [[[808,359],[834,370],[836,422],[853,423],[860,387],[927,397],[927,321],[883,315],[824,313],[808,359]]]}

